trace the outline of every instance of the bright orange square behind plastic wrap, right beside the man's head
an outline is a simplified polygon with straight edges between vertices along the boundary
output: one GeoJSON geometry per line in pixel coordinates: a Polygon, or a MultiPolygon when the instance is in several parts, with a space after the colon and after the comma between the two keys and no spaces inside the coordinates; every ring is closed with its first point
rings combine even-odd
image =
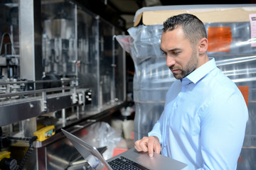
{"type": "Polygon", "coordinates": [[[208,52],[229,52],[231,37],[230,27],[209,27],[208,52]]]}

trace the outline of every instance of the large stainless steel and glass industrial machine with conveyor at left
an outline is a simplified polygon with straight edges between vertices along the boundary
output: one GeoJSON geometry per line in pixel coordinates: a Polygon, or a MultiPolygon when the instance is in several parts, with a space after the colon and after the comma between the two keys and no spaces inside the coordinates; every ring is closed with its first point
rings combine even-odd
{"type": "Polygon", "coordinates": [[[0,7],[0,169],[66,169],[50,152],[60,128],[78,132],[126,101],[123,31],[75,1],[0,7]]]}

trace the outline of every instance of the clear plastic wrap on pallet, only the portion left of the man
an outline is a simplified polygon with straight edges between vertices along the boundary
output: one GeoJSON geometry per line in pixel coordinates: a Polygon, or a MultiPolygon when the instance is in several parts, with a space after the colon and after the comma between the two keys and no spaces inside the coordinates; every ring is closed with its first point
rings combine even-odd
{"type": "Polygon", "coordinates": [[[175,80],[160,50],[162,26],[129,28],[129,36],[117,35],[134,61],[134,140],[147,136],[164,108],[165,95],[175,80]]]}

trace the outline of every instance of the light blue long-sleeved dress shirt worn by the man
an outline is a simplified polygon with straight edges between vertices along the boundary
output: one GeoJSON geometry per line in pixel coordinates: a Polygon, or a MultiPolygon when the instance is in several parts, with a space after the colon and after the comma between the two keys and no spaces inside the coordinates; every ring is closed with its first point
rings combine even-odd
{"type": "Polygon", "coordinates": [[[187,169],[234,170],[247,119],[240,90],[211,58],[174,81],[149,136],[159,138],[161,154],[188,164],[187,169]]]}

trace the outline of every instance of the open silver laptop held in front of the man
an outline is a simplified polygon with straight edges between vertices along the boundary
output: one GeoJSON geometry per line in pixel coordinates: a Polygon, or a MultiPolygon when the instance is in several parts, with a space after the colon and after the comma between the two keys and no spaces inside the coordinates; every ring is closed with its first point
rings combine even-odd
{"type": "Polygon", "coordinates": [[[161,170],[178,170],[184,169],[187,164],[178,162],[169,157],[164,157],[161,154],[154,153],[154,157],[149,157],[148,153],[137,152],[133,147],[132,149],[118,154],[115,157],[105,160],[102,154],[98,152],[96,147],[89,145],[84,140],[72,135],[61,129],[66,137],[72,142],[74,147],[80,152],[82,157],[88,164],[95,170],[101,169],[161,169],[161,170]]]}

